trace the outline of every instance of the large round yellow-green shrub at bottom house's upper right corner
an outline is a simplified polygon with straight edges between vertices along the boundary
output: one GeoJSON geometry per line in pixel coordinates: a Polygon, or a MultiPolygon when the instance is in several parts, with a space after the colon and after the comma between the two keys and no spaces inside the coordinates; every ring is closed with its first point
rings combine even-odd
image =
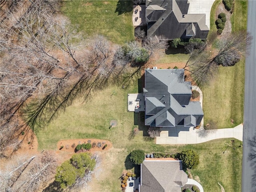
{"type": "Polygon", "coordinates": [[[184,168],[194,169],[199,164],[199,155],[192,149],[183,150],[180,153],[180,159],[184,168]]]}

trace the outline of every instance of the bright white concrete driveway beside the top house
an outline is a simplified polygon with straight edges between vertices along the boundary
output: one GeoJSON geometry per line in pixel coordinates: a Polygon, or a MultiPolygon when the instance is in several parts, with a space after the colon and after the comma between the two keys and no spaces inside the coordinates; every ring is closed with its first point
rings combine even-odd
{"type": "Polygon", "coordinates": [[[210,13],[215,0],[189,0],[188,14],[206,14],[206,25],[210,29],[210,13]]]}

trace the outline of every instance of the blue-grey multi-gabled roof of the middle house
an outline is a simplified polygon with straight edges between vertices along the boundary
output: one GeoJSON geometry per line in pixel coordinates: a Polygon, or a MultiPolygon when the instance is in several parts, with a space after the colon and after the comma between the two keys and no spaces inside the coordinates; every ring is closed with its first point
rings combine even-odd
{"type": "Polygon", "coordinates": [[[145,125],[199,125],[204,112],[199,101],[190,101],[191,88],[184,81],[184,69],[145,70],[145,125]]]}

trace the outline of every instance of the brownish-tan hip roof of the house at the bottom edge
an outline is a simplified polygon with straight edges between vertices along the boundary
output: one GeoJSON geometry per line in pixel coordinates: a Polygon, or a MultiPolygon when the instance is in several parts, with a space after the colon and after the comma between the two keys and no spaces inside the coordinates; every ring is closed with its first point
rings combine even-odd
{"type": "Polygon", "coordinates": [[[188,182],[181,161],[144,161],[141,164],[140,192],[180,192],[188,182]]]}

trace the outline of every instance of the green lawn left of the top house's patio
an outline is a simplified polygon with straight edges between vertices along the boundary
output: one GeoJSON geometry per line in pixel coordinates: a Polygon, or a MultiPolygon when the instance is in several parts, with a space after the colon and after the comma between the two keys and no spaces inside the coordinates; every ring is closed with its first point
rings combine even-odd
{"type": "Polygon", "coordinates": [[[132,1],[73,0],[62,2],[62,12],[85,36],[101,34],[116,44],[134,40],[132,1]]]}

